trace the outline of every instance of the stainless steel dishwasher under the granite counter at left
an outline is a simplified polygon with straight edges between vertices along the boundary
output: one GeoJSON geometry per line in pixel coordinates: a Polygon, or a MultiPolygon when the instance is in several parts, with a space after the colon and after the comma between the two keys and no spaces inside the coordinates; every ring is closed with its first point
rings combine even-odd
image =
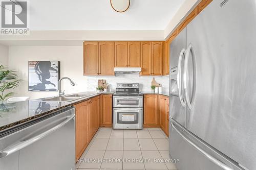
{"type": "Polygon", "coordinates": [[[75,108],[64,108],[1,134],[0,169],[74,170],[75,108]]]}

